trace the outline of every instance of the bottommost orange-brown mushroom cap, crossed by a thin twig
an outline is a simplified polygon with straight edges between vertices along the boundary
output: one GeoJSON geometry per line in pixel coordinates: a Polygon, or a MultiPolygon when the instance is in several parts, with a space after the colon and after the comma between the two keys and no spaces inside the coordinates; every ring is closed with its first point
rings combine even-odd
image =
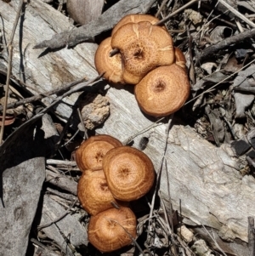
{"type": "Polygon", "coordinates": [[[127,232],[136,237],[136,217],[130,208],[111,208],[88,223],[88,241],[102,253],[112,252],[132,242],[127,232]]]}

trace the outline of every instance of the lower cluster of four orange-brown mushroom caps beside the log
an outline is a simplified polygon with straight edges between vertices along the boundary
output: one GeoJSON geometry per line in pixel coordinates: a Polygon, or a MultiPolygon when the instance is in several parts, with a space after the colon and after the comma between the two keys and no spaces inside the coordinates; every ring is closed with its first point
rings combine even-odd
{"type": "Polygon", "coordinates": [[[130,244],[136,237],[136,217],[128,205],[154,183],[150,158],[109,135],[96,135],[77,149],[76,161],[82,171],[77,196],[92,215],[89,242],[104,253],[130,244]]]}

